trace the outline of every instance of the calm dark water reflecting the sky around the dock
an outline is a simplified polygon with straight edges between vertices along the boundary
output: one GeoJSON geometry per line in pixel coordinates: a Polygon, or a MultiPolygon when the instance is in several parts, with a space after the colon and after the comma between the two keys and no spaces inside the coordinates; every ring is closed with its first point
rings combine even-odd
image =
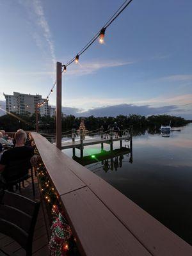
{"type": "MultiPolygon", "coordinates": [[[[100,145],[84,147],[85,156],[92,152],[97,159],[83,165],[192,245],[192,124],[174,129],[169,138],[156,129],[133,134],[134,162],[124,141],[127,152],[103,159],[97,156],[100,145]]],[[[119,143],[113,148],[119,149],[119,143]]],[[[72,150],[64,152],[72,157],[72,150]]]]}

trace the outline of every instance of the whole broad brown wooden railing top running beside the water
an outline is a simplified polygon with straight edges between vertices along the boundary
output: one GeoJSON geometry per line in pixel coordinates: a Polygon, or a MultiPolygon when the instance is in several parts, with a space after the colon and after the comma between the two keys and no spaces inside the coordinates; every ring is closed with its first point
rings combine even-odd
{"type": "Polygon", "coordinates": [[[188,256],[191,246],[103,179],[31,134],[82,255],[188,256]]]}

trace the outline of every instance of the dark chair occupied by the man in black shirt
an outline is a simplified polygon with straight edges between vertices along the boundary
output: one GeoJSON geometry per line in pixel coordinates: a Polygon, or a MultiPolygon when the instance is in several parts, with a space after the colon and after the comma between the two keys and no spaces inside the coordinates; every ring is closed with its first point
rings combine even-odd
{"type": "Polygon", "coordinates": [[[33,186],[33,196],[35,196],[33,167],[31,166],[30,158],[10,161],[10,163],[8,164],[8,166],[6,166],[3,172],[4,189],[10,190],[13,188],[13,185],[19,184],[20,191],[20,182],[22,182],[22,185],[24,185],[24,180],[28,180],[29,178],[31,178],[33,186]]]}

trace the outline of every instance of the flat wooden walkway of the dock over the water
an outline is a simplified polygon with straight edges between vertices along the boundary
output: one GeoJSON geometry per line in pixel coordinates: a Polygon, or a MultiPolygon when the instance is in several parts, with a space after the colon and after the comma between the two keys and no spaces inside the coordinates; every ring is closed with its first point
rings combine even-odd
{"type": "MultiPolygon", "coordinates": [[[[113,141],[122,141],[122,140],[131,140],[131,136],[122,136],[118,138],[113,138],[113,141]]],[[[67,149],[67,148],[81,148],[82,146],[89,146],[89,145],[95,145],[95,144],[111,144],[113,143],[110,138],[104,139],[104,138],[93,138],[93,139],[86,139],[83,140],[83,143],[81,143],[81,140],[79,141],[70,141],[70,142],[61,142],[61,148],[67,149]]]]}

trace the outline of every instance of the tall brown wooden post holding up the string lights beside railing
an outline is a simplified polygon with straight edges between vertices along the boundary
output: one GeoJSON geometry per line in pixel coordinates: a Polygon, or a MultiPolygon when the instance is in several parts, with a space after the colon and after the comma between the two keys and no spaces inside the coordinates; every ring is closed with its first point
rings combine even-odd
{"type": "Polygon", "coordinates": [[[56,64],[56,147],[61,150],[61,86],[62,86],[62,64],[56,64]]]}

